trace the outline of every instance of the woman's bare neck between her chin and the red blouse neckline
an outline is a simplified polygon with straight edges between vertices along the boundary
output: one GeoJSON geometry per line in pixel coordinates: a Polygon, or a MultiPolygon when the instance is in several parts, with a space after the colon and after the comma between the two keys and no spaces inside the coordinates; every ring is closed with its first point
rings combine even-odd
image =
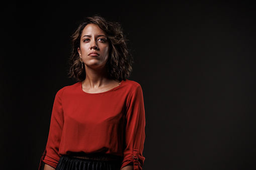
{"type": "Polygon", "coordinates": [[[107,67],[103,68],[89,68],[85,67],[86,79],[83,80],[83,85],[88,88],[98,88],[108,84],[110,78],[107,67]]]}

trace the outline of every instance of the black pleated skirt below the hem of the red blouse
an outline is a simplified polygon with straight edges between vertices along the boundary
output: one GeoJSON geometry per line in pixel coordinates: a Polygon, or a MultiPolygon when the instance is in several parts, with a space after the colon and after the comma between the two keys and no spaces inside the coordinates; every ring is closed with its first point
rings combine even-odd
{"type": "Polygon", "coordinates": [[[120,170],[122,160],[92,160],[62,155],[55,170],[120,170]]]}

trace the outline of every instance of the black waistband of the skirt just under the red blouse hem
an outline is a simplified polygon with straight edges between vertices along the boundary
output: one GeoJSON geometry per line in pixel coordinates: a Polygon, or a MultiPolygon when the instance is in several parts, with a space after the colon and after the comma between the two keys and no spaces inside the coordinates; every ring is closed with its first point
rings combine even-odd
{"type": "Polygon", "coordinates": [[[118,156],[114,154],[106,153],[71,153],[69,156],[80,158],[80,159],[90,159],[90,160],[123,160],[123,156],[118,156]]]}

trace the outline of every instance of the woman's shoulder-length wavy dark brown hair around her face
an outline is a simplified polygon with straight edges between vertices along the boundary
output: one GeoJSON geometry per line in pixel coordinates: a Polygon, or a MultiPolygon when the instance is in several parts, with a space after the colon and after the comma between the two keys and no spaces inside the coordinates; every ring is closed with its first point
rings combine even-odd
{"type": "Polygon", "coordinates": [[[81,67],[77,49],[80,47],[82,31],[88,24],[97,24],[108,38],[110,47],[107,61],[109,76],[114,80],[126,80],[132,71],[132,56],[127,48],[128,40],[125,38],[119,23],[106,21],[100,16],[85,18],[71,36],[72,51],[69,59],[69,77],[73,77],[78,81],[86,79],[86,70],[84,70],[84,66],[83,69],[81,67]]]}

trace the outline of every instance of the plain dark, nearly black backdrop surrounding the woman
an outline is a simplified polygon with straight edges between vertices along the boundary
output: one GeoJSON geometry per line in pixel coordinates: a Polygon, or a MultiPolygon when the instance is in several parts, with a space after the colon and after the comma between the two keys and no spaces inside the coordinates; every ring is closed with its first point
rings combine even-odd
{"type": "Polygon", "coordinates": [[[95,14],[122,23],[130,40],[143,169],[256,168],[255,6],[13,1],[1,10],[1,169],[38,168],[55,94],[75,83],[70,36],[95,14]]]}

